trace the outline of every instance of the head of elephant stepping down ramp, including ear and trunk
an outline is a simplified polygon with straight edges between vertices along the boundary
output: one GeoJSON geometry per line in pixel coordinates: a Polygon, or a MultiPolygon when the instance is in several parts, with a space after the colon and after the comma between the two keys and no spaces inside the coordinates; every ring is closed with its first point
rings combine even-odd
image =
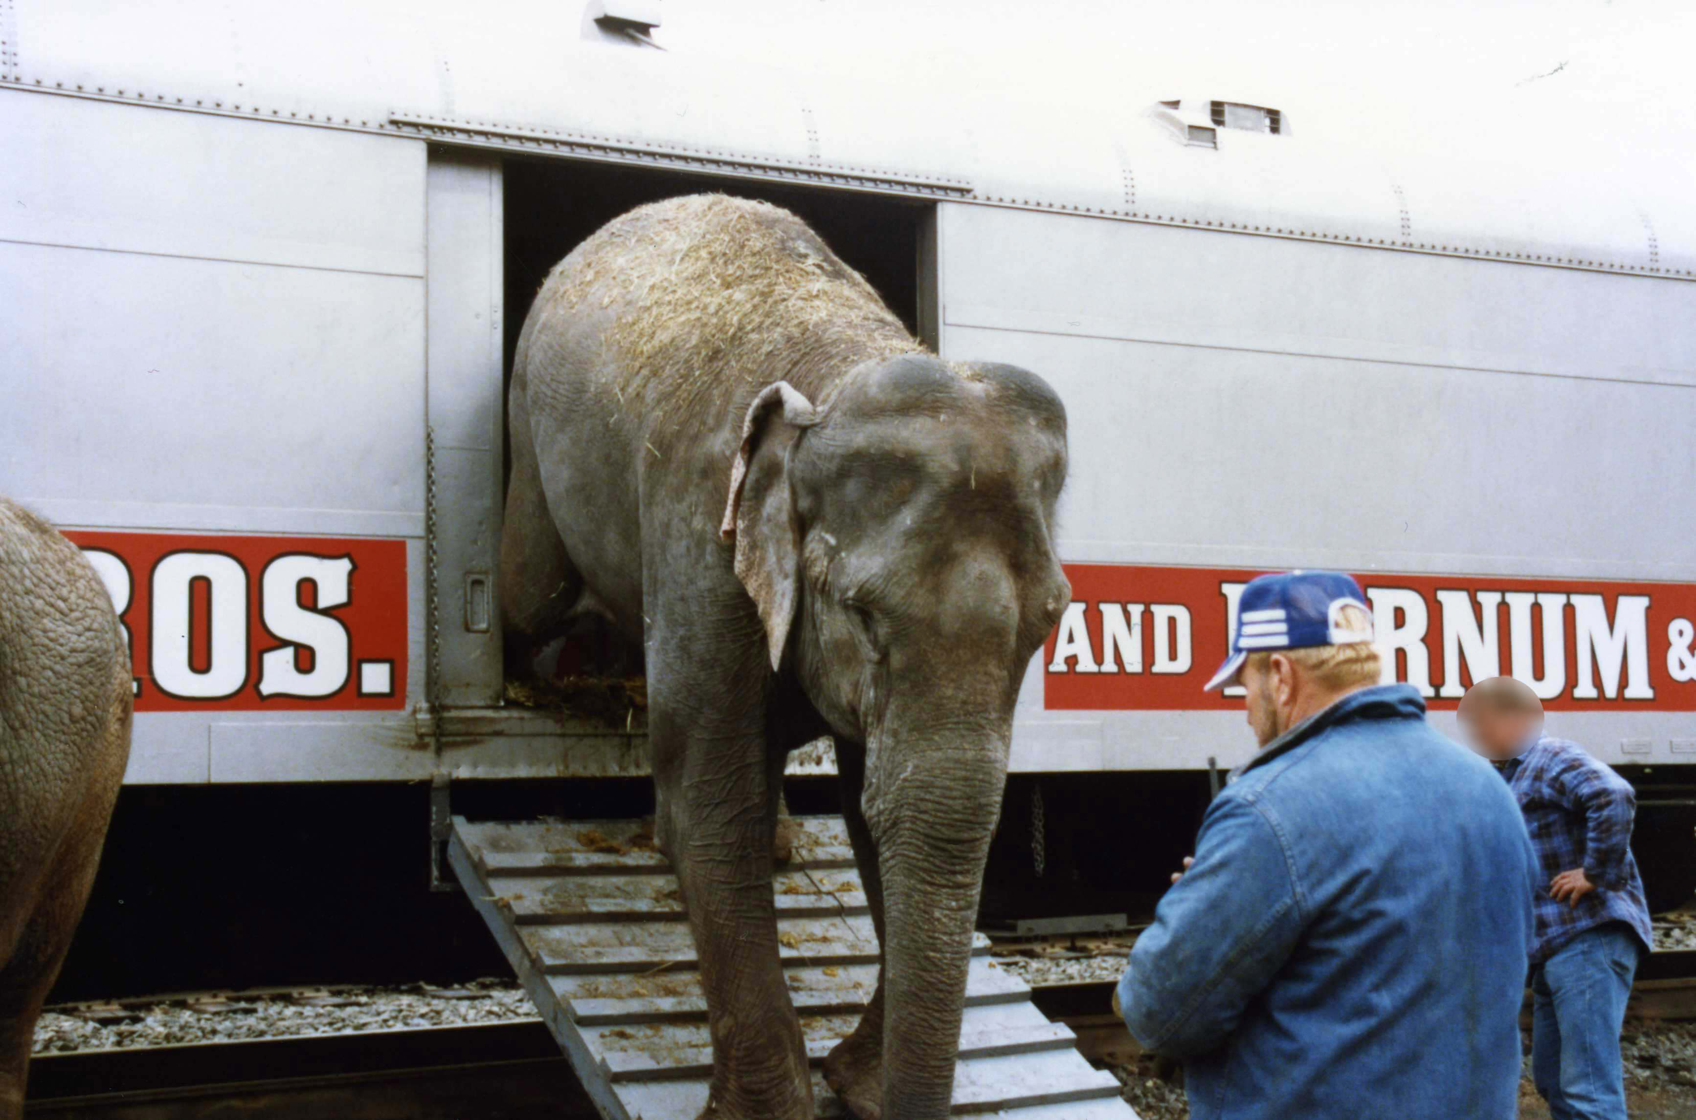
{"type": "Polygon", "coordinates": [[[1013,705],[1070,586],[1065,408],[999,364],[909,354],[817,407],[748,410],[724,517],[772,664],[865,747],[885,913],[885,1117],[945,1115],[1013,705]]]}

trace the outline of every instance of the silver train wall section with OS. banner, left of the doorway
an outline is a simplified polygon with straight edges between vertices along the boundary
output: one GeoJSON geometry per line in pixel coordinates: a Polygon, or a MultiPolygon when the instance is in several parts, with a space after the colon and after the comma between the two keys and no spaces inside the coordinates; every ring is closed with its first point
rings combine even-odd
{"type": "Polygon", "coordinates": [[[127,779],[429,773],[424,144],[20,93],[0,115],[0,491],[126,595],[127,779]]]}

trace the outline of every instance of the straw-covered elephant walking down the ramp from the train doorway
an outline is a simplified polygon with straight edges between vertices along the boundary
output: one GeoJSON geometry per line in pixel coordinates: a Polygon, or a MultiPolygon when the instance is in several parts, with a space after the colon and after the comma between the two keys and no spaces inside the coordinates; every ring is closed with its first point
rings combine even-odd
{"type": "Polygon", "coordinates": [[[880,942],[826,1081],[865,1120],[948,1115],[1014,700],[1070,600],[1065,424],[1036,374],[928,352],[770,203],[639,207],[543,283],[509,393],[502,625],[522,651],[589,612],[641,644],[702,1117],[816,1115],[772,839],[785,756],[821,735],[880,942]]]}

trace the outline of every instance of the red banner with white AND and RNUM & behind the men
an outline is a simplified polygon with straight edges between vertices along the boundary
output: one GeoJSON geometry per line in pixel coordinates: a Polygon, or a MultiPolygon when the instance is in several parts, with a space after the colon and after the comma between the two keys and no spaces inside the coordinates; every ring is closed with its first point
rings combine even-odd
{"type": "MultiPolygon", "coordinates": [[[[1067,564],[1072,603],[1043,647],[1053,710],[1238,708],[1204,693],[1252,569],[1067,564]]],[[[1543,707],[1696,712],[1696,585],[1357,574],[1396,679],[1452,708],[1516,676],[1543,707]]]]}

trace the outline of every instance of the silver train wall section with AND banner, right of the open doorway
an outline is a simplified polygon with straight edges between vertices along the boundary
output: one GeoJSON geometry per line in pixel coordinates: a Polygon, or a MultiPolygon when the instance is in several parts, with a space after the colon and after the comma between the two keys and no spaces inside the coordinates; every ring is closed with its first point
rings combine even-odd
{"type": "MultiPolygon", "coordinates": [[[[1560,678],[1564,734],[1613,762],[1696,761],[1679,698],[1696,668],[1679,644],[1696,517],[1652,502],[1696,485],[1696,352],[1676,329],[1696,290],[955,203],[938,222],[943,352],[1021,363],[1060,390],[1062,556],[1133,566],[1118,591],[1077,600],[1096,669],[1097,600],[1138,608],[1124,634],[1152,685],[1160,657],[1189,673],[1211,668],[1197,649],[1223,647],[1209,629],[1180,657],[1177,625],[1223,618],[1235,576],[1186,598],[1148,566],[1343,568],[1382,600],[1381,637],[1433,707],[1452,705],[1437,690],[1459,671],[1443,607],[1460,600],[1443,596],[1462,595],[1496,612],[1477,617],[1481,642],[1499,615],[1501,671],[1523,659],[1560,678]],[[1503,439],[1509,419],[1533,435],[1503,439]]],[[[1197,768],[1252,749],[1241,715],[1199,710],[1199,695],[1091,710],[1074,693],[1046,710],[1045,676],[1079,671],[1053,661],[1050,647],[1026,678],[1014,769],[1197,768]]],[[[1452,729],[1452,712],[1433,718],[1452,729]]]]}

